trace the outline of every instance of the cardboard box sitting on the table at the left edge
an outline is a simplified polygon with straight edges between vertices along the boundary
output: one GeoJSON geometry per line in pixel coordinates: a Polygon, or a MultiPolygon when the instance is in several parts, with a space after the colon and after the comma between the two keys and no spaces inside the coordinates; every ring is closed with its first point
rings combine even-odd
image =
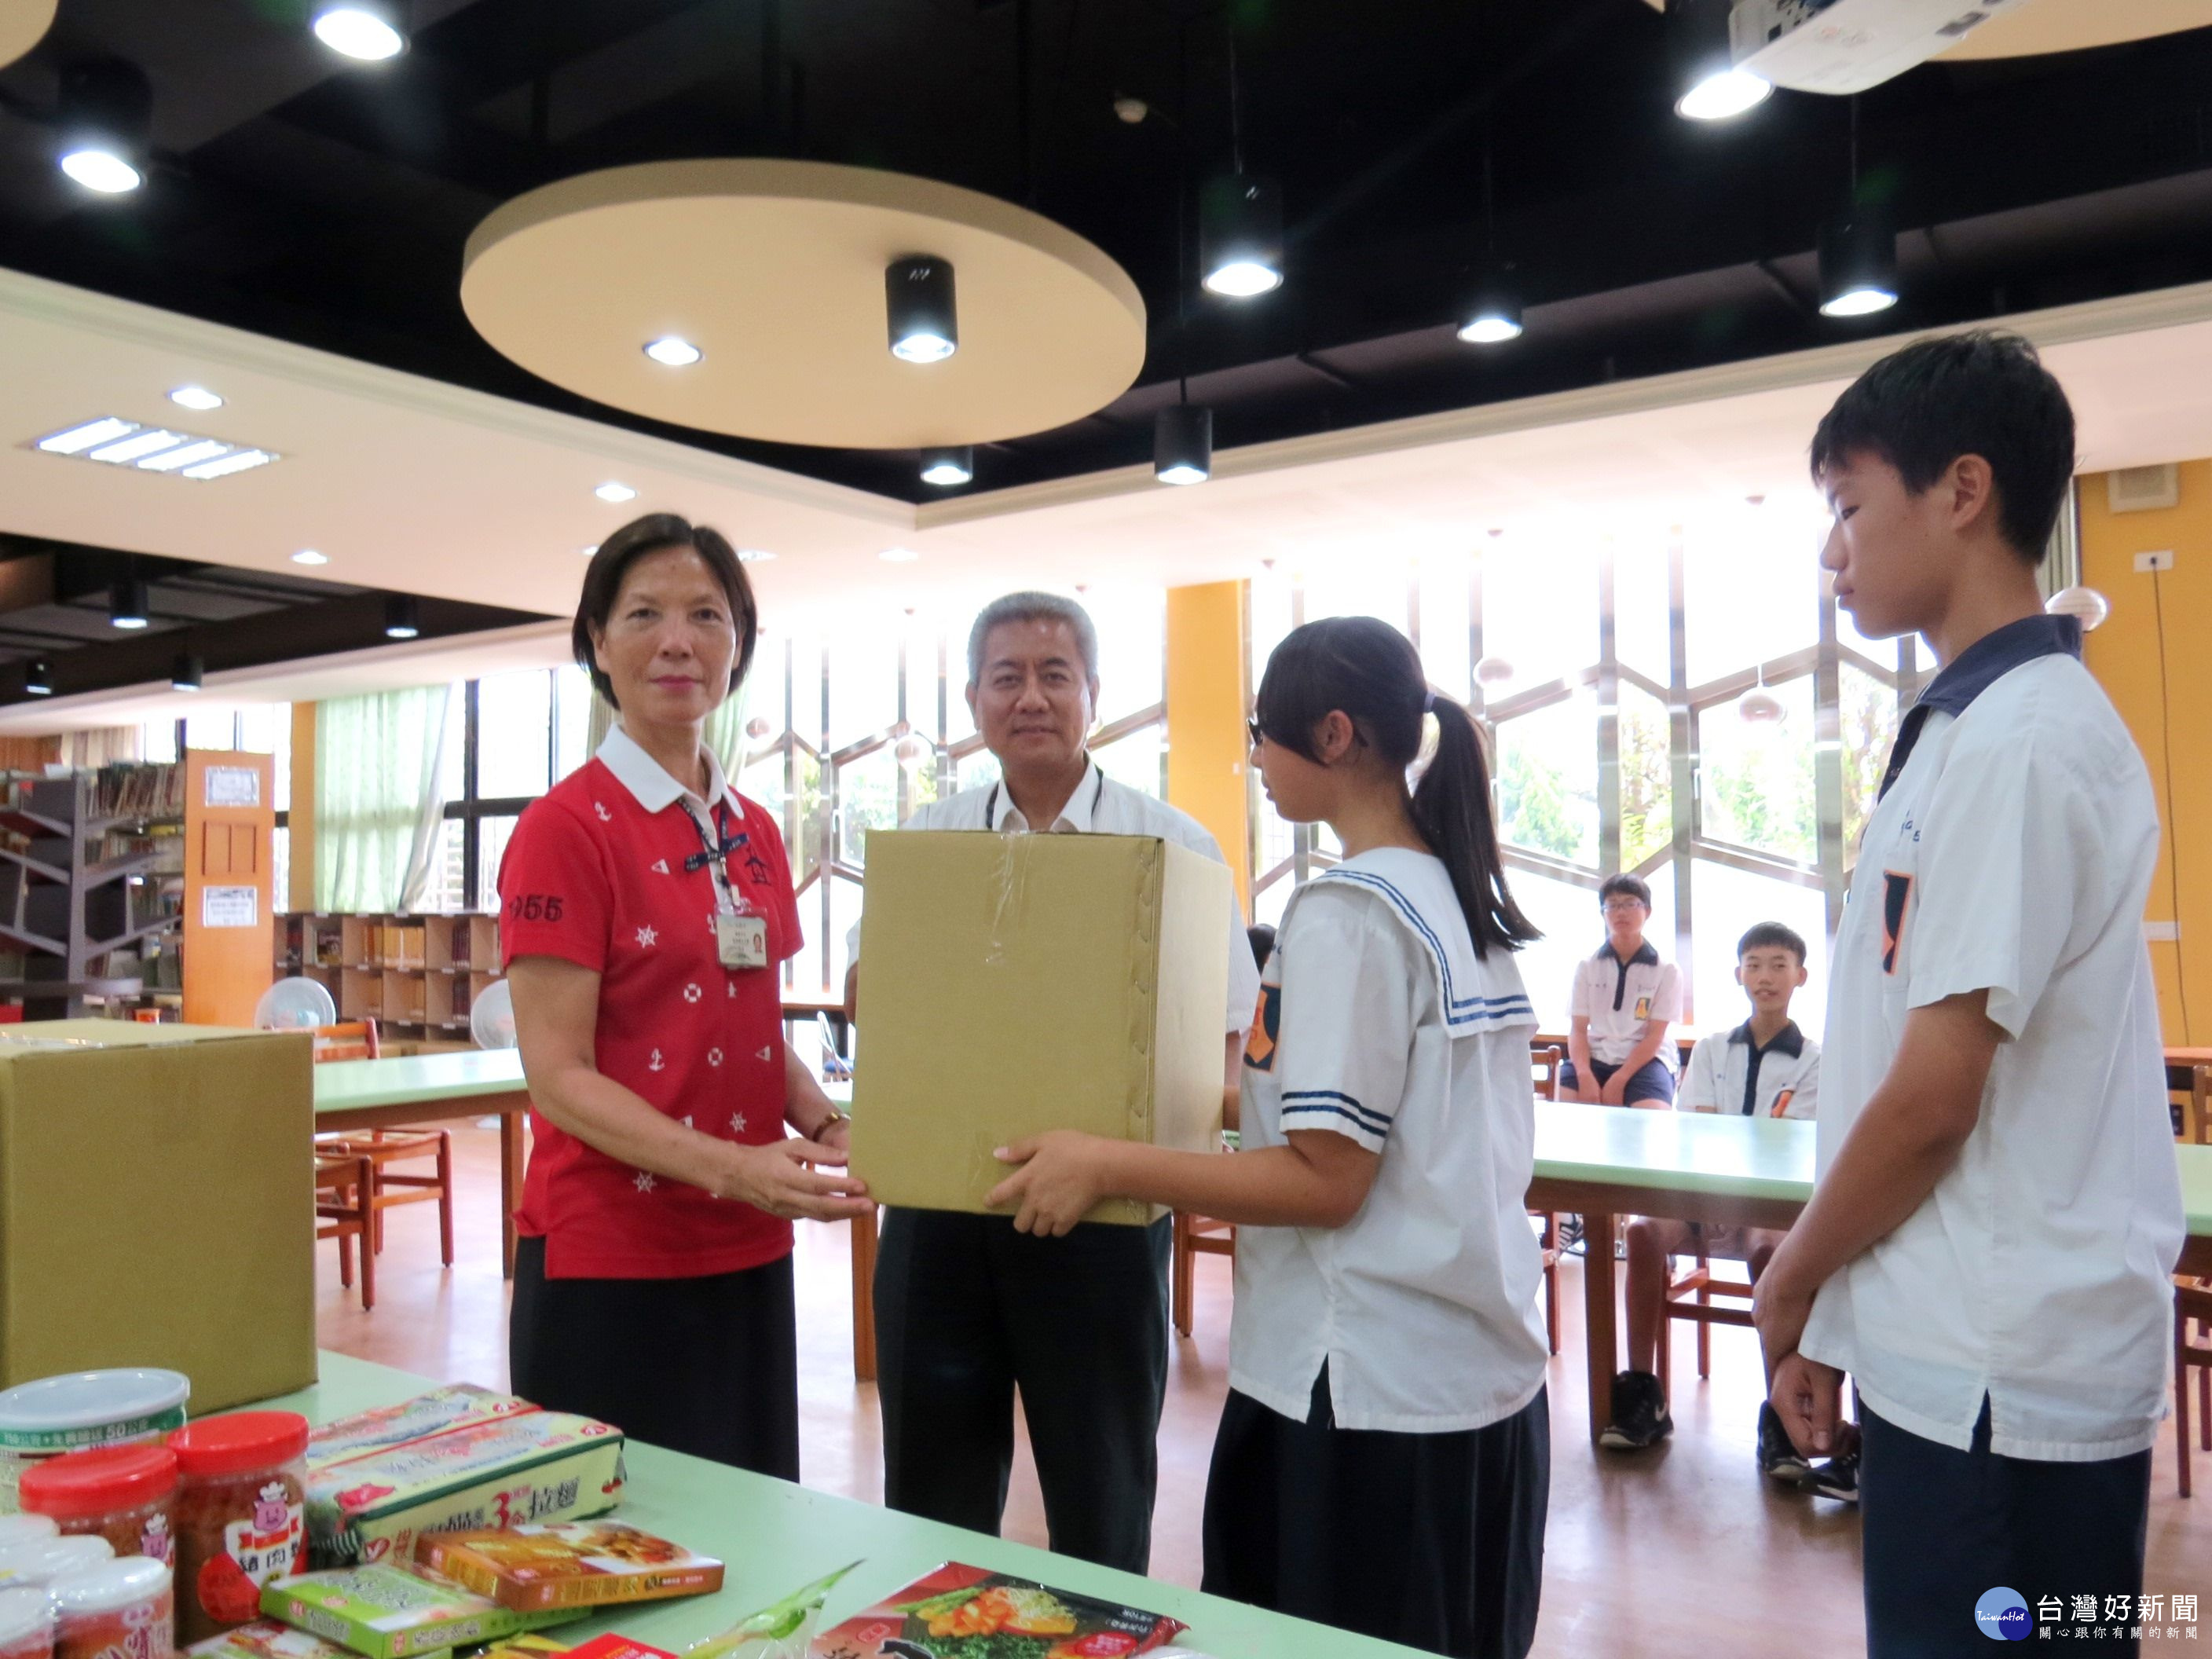
{"type": "Polygon", "coordinates": [[[159,1365],[192,1416],[314,1383],[305,1031],[38,1020],[0,1040],[0,1387],[159,1365]]]}

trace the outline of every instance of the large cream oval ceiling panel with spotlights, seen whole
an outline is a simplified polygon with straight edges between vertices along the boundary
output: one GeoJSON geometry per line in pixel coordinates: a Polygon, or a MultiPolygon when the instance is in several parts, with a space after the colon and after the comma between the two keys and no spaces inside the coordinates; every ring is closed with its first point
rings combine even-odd
{"type": "Polygon", "coordinates": [[[507,358],[617,409],[841,449],[1018,438],[1113,403],[1144,301],[1093,243],[958,186],[823,161],[657,161],[531,190],[469,237],[460,303],[507,358]],[[949,261],[960,349],[889,352],[885,268],[949,261]],[[684,352],[646,345],[675,336],[684,352]]]}

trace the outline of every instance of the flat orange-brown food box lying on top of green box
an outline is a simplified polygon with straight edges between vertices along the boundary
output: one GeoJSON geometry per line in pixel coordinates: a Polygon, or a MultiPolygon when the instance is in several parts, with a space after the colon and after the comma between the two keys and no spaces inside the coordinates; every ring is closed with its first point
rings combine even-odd
{"type": "Polygon", "coordinates": [[[416,1562],[524,1613],[661,1601],[721,1588],[721,1562],[611,1520],[425,1533],[416,1540],[416,1562]]]}

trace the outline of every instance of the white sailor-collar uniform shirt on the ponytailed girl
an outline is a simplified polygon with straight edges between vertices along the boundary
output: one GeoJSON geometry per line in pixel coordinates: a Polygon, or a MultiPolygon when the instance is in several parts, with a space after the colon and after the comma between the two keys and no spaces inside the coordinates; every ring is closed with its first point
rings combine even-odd
{"type": "Polygon", "coordinates": [[[1533,1029],[1513,953],[1475,958],[1429,854],[1367,852],[1292,896],[1245,1044],[1243,1146],[1334,1130],[1383,1161],[1343,1228],[1237,1228],[1232,1389],[1305,1422],[1327,1363],[1338,1427],[1400,1433],[1535,1398],[1533,1029]]]}

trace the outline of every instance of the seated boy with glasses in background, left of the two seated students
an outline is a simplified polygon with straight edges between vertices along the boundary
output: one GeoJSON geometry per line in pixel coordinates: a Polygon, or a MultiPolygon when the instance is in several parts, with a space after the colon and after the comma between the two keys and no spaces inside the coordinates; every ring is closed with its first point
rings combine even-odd
{"type": "Polygon", "coordinates": [[[1588,1106],[1666,1106],[1674,1099],[1666,1029],[1681,1020],[1681,973],[1644,938],[1652,889],[1641,878],[1606,876],[1597,902],[1606,942],[1575,969],[1559,1091],[1588,1106]]]}

